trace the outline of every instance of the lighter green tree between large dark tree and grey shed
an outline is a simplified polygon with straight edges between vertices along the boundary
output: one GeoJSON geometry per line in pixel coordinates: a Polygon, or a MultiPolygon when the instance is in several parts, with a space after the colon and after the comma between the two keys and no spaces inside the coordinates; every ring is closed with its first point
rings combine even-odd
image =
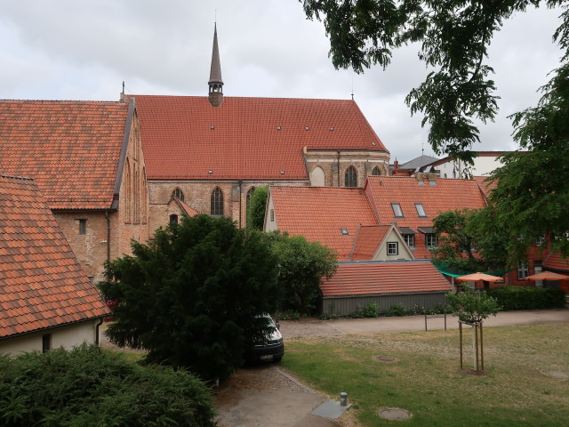
{"type": "Polygon", "coordinates": [[[320,294],[320,279],[332,277],[337,255],[318,242],[303,236],[271,234],[273,253],[279,264],[278,284],[284,294],[284,310],[313,313],[320,294]]]}

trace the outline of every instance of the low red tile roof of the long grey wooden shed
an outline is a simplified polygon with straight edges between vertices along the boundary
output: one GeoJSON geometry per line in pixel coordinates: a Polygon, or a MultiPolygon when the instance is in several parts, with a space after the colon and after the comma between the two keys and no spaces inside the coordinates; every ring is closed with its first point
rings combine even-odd
{"type": "Polygon", "coordinates": [[[320,284],[327,296],[447,292],[451,284],[431,263],[339,262],[332,278],[320,284]]]}

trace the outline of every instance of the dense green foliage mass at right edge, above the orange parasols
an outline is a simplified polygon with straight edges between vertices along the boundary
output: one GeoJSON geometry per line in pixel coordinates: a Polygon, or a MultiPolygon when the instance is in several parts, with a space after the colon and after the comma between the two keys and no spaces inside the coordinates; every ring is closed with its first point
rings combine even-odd
{"type": "Polygon", "coordinates": [[[548,232],[552,246],[569,255],[569,64],[558,68],[541,90],[536,108],[513,116],[514,136],[528,152],[502,158],[502,167],[492,174],[496,188],[490,201],[497,211],[497,227],[508,227],[517,236],[510,252],[523,253],[548,232]]]}

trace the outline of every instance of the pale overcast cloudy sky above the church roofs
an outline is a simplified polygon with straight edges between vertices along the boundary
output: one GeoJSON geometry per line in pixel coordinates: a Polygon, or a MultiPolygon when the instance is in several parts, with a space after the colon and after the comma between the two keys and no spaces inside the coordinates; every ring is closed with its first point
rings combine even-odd
{"type": "MultiPolygon", "coordinates": [[[[531,9],[506,21],[489,49],[500,112],[480,124],[476,150],[516,149],[509,115],[533,107],[561,52],[560,11],[531,9]]],[[[298,0],[0,1],[0,99],[118,101],[129,94],[206,96],[217,21],[225,96],[353,97],[383,144],[405,163],[427,143],[405,96],[427,69],[416,46],[389,68],[333,68],[324,24],[298,0]]]]}

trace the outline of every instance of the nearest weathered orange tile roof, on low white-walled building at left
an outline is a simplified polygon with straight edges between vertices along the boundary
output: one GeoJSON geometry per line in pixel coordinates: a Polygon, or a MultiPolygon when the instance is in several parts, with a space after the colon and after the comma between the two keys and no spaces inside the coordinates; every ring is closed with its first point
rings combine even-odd
{"type": "Polygon", "coordinates": [[[34,181],[0,175],[0,338],[108,314],[34,181]]]}

